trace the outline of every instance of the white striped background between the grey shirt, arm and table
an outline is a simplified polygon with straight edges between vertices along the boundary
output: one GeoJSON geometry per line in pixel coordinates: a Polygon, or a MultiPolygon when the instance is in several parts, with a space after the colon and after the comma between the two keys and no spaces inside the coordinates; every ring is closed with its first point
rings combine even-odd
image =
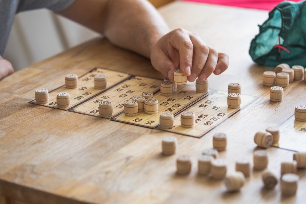
{"type": "Polygon", "coordinates": [[[47,9],[26,11],[15,17],[4,58],[20,70],[96,36],[47,9]]]}

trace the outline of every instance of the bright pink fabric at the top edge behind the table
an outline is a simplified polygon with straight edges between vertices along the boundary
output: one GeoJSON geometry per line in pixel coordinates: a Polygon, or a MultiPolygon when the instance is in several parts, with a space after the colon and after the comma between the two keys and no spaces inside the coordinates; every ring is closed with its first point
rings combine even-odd
{"type": "MultiPolygon", "coordinates": [[[[188,2],[202,2],[208,4],[219,4],[226,6],[235,6],[251,9],[263,9],[272,10],[278,3],[282,2],[280,0],[184,0],[188,2]]],[[[291,0],[293,2],[298,2],[299,0],[291,0]]]]}

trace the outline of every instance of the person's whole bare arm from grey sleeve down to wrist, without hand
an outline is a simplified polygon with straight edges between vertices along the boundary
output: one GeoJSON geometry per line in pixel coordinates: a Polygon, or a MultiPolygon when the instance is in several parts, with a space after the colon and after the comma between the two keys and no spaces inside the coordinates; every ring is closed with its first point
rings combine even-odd
{"type": "Polygon", "coordinates": [[[152,44],[169,32],[147,0],[76,0],[58,13],[146,57],[150,57],[152,44]]]}

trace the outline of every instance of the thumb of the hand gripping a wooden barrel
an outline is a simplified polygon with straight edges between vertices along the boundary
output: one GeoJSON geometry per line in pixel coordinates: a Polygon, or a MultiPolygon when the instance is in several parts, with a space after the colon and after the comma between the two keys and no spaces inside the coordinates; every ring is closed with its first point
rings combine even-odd
{"type": "Polygon", "coordinates": [[[162,52],[151,59],[153,67],[161,72],[164,76],[168,77],[170,81],[174,82],[174,70],[177,70],[177,66],[162,52]]]}

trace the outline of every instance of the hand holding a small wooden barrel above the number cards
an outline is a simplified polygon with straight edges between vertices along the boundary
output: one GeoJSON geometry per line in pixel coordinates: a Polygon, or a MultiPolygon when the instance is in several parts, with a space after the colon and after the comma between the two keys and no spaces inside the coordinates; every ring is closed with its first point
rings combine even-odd
{"type": "Polygon", "coordinates": [[[198,34],[184,29],[175,29],[162,36],[151,48],[151,63],[154,68],[174,81],[178,65],[188,81],[205,81],[211,73],[224,72],[229,64],[225,53],[207,46],[198,34]]]}

